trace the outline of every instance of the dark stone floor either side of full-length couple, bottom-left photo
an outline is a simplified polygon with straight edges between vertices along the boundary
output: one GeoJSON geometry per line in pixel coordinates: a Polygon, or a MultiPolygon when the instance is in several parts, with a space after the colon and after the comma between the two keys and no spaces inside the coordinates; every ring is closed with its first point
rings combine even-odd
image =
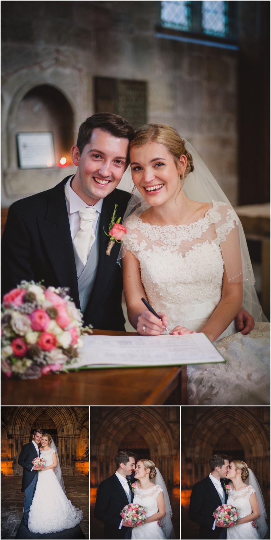
{"type": "MultiPolygon", "coordinates": [[[[87,476],[64,476],[66,495],[71,503],[83,510],[80,527],[89,538],[89,479],[87,476]]],[[[21,493],[22,476],[1,478],[1,538],[15,538],[23,515],[23,497],[21,493]]]]}

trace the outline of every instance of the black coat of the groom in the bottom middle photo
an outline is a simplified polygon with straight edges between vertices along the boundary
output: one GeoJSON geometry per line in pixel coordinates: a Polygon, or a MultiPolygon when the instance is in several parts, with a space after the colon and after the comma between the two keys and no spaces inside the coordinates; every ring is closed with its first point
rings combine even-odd
{"type": "MultiPolygon", "coordinates": [[[[132,494],[131,501],[133,502],[134,492],[129,480],[128,485],[132,494]]],[[[122,519],[121,511],[127,504],[128,497],[116,474],[101,482],[98,487],[94,516],[104,523],[103,537],[105,539],[114,540],[115,538],[124,538],[127,531],[129,538],[131,538],[130,527],[118,529],[122,519]]]]}

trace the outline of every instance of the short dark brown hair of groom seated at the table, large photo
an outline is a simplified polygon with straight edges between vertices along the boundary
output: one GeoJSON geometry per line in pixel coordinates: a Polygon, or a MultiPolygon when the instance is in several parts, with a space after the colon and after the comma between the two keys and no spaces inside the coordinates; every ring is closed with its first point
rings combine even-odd
{"type": "Polygon", "coordinates": [[[80,156],[85,145],[89,143],[92,131],[96,127],[99,127],[102,131],[107,131],[113,137],[128,139],[129,143],[135,136],[134,128],[122,116],[111,112],[97,112],[87,118],[79,128],[76,145],[78,146],[80,156]]]}

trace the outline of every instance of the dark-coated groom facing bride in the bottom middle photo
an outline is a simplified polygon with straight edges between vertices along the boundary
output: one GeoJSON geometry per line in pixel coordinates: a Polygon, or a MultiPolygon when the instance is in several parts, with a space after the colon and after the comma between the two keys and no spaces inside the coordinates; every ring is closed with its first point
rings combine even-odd
{"type": "MultiPolygon", "coordinates": [[[[115,457],[117,471],[98,487],[94,516],[104,523],[104,538],[131,538],[131,526],[121,518],[125,505],[133,502],[134,490],[127,480],[135,469],[135,454],[127,450],[115,457]]],[[[140,527],[140,525],[138,525],[140,527]]]]}

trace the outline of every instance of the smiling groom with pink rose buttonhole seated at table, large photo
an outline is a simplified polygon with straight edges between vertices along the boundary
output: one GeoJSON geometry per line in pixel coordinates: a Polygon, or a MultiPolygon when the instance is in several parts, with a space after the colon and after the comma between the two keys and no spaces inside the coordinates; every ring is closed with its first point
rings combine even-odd
{"type": "MultiPolygon", "coordinates": [[[[21,280],[69,287],[85,325],[124,330],[122,272],[116,264],[120,244],[105,255],[104,230],[108,232],[115,204],[116,218],[123,218],[130,198],[115,188],[127,168],[133,138],[134,129],[124,118],[94,114],[81,124],[71,149],[75,176],[10,206],[2,238],[2,295],[21,280]]],[[[254,327],[244,310],[236,324],[242,334],[254,327]]]]}

